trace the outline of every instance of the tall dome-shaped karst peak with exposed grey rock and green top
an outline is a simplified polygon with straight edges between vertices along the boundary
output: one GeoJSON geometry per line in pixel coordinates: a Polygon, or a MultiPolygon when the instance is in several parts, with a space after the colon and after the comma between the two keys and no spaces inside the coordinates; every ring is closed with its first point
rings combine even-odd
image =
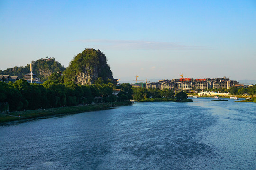
{"type": "Polygon", "coordinates": [[[113,80],[113,74],[107,64],[106,56],[95,49],[85,49],[70,62],[65,71],[65,80],[78,84],[94,84],[101,77],[103,80],[113,80]]]}

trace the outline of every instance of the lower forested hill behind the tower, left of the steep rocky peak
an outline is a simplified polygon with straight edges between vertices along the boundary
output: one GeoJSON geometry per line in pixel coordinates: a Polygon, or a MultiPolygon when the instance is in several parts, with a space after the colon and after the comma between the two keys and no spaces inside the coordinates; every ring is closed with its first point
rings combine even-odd
{"type": "MultiPolygon", "coordinates": [[[[58,61],[55,61],[55,58],[38,59],[37,61],[31,62],[33,65],[33,73],[36,74],[37,78],[41,80],[47,80],[48,76],[52,73],[65,70],[65,67],[62,66],[58,61]]],[[[15,66],[13,68],[8,68],[6,70],[0,70],[0,75],[10,75],[18,76],[19,79],[23,78],[25,74],[30,72],[30,64],[26,66],[15,66]]]]}

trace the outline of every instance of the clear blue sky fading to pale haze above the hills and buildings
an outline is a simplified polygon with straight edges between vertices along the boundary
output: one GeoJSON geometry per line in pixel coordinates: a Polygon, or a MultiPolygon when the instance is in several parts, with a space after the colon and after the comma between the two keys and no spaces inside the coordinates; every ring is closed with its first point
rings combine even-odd
{"type": "Polygon", "coordinates": [[[256,79],[255,0],[1,0],[0,69],[101,50],[114,78],[256,79]]]}

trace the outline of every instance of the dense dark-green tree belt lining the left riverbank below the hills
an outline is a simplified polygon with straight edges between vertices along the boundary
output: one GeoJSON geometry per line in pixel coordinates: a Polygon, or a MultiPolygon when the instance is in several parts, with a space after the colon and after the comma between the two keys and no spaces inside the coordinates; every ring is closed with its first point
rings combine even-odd
{"type": "Polygon", "coordinates": [[[9,110],[33,110],[39,108],[52,108],[91,104],[101,102],[116,102],[129,99],[131,88],[121,90],[122,97],[113,95],[115,85],[95,84],[78,85],[73,81],[63,83],[58,74],[52,74],[50,80],[43,84],[28,83],[18,80],[14,83],[0,82],[0,103],[8,103],[9,110]]]}

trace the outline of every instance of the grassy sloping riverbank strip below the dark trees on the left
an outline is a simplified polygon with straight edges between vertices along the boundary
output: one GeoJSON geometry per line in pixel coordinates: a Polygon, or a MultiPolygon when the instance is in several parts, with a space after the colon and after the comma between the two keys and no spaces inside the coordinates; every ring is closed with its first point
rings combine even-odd
{"type": "Polygon", "coordinates": [[[125,102],[110,102],[102,104],[89,104],[89,105],[78,105],[78,106],[66,106],[59,108],[49,108],[40,110],[26,110],[10,112],[9,114],[0,114],[0,123],[9,122],[21,119],[31,119],[44,116],[53,116],[60,114],[75,114],[87,111],[105,110],[115,106],[127,106],[132,104],[130,101],[125,102]]]}

